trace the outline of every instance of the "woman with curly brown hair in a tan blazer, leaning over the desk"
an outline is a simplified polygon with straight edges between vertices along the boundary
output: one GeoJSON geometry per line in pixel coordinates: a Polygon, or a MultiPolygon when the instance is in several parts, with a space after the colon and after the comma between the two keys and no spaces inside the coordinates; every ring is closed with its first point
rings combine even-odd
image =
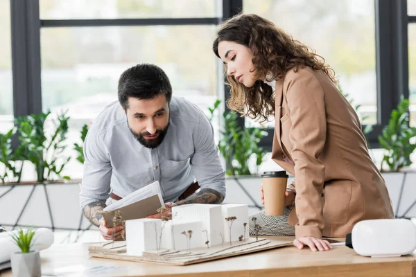
{"type": "Polygon", "coordinates": [[[295,247],[324,251],[331,244],[323,237],[344,237],[361,220],[394,218],[360,120],[320,55],[257,15],[221,24],[213,50],[225,64],[228,107],[262,122],[274,116],[272,159],[296,178],[284,217],[253,215],[261,235],[295,235],[295,247]]]}

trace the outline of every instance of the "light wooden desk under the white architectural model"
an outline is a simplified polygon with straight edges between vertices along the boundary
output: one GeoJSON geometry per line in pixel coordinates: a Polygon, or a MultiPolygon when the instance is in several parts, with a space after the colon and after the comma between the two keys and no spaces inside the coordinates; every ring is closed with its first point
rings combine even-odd
{"type": "MultiPolygon", "coordinates": [[[[40,255],[42,274],[53,274],[54,269],[65,267],[77,267],[79,272],[83,268],[116,266],[120,267],[119,271],[107,271],[109,275],[105,276],[416,276],[415,256],[366,258],[347,247],[324,252],[284,247],[183,267],[89,258],[88,244],[55,244],[40,255]]],[[[1,274],[1,277],[9,276],[11,271],[1,274]]]]}

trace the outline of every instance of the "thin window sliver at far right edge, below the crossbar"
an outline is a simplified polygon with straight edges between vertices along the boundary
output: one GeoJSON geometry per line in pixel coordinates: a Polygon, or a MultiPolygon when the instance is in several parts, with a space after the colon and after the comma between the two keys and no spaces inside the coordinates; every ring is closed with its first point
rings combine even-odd
{"type": "Polygon", "coordinates": [[[410,125],[416,127],[416,24],[408,25],[410,125]]]}

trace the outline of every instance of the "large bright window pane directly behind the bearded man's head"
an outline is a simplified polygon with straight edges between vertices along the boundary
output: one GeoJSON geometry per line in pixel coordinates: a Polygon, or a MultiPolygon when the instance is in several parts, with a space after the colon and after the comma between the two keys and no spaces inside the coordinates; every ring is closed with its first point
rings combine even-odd
{"type": "MultiPolygon", "coordinates": [[[[215,26],[42,28],[42,109],[71,116],[69,144],[80,128],[117,100],[125,69],[160,66],[182,96],[208,114],[217,96],[215,26]]],[[[218,127],[216,127],[218,129],[218,127]]]]}

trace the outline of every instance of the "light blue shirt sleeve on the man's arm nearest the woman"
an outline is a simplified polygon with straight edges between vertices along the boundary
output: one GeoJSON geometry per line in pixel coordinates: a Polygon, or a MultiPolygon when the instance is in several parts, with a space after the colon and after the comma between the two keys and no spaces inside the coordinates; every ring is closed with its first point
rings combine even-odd
{"type": "Polygon", "coordinates": [[[193,133],[195,152],[191,156],[193,174],[201,188],[211,188],[225,198],[225,171],[220,163],[214,129],[207,116],[200,114],[198,127],[193,133]]]}

